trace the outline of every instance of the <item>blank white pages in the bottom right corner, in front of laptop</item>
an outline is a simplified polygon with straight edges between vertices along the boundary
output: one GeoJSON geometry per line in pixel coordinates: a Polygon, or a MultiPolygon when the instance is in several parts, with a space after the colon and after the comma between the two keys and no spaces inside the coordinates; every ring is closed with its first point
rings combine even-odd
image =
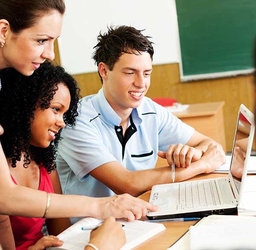
{"type": "Polygon", "coordinates": [[[255,249],[256,217],[210,215],[191,226],[167,250],[255,249]]]}

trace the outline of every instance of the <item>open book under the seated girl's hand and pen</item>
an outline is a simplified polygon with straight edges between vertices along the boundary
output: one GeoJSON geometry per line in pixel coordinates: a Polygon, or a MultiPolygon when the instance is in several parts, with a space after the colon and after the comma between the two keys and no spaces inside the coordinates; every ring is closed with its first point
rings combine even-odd
{"type": "MultiPolygon", "coordinates": [[[[126,244],[120,250],[130,250],[166,229],[163,224],[159,223],[137,220],[127,222],[122,219],[116,221],[123,225],[122,228],[126,236],[126,244]]],[[[81,230],[81,227],[96,226],[101,222],[103,222],[103,220],[91,217],[81,219],[58,235],[58,238],[63,240],[64,244],[61,247],[52,247],[51,250],[84,250],[85,245],[90,240],[91,230],[81,230]]]]}

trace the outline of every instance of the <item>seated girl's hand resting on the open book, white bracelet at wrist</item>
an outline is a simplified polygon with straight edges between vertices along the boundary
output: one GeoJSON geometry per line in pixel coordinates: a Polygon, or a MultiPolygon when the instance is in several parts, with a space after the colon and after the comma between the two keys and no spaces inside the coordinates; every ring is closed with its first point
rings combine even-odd
{"type": "MultiPolygon", "coordinates": [[[[90,243],[98,247],[99,250],[118,250],[125,244],[125,241],[122,225],[113,217],[106,219],[99,228],[90,234],[90,243]]],[[[85,247],[85,250],[92,250],[92,248],[85,247]]]]}

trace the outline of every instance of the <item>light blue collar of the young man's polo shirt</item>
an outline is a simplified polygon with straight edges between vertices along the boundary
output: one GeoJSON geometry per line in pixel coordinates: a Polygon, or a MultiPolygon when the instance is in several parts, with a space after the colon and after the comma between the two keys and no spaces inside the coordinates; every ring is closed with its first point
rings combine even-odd
{"type": "MultiPolygon", "coordinates": [[[[99,117],[106,123],[113,126],[119,126],[122,119],[116,114],[111,105],[109,105],[104,92],[103,87],[99,90],[98,94],[93,97],[93,106],[97,112],[101,114],[99,117]]],[[[141,105],[138,108],[134,108],[131,112],[134,125],[137,127],[142,122],[141,105]]]]}

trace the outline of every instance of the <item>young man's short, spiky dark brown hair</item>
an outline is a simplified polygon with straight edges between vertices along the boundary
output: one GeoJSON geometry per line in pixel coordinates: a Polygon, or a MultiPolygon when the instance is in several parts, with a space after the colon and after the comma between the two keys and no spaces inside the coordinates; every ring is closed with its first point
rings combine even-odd
{"type": "MultiPolygon", "coordinates": [[[[99,66],[100,62],[108,65],[110,70],[113,69],[114,64],[123,53],[137,54],[141,52],[148,52],[151,60],[153,60],[154,49],[152,42],[148,40],[148,36],[144,36],[141,32],[131,26],[117,26],[108,27],[108,31],[100,32],[98,36],[98,43],[93,48],[93,60],[99,66]]],[[[100,76],[100,75],[99,75],[100,76]]],[[[102,77],[100,76],[102,81],[102,77]]]]}

